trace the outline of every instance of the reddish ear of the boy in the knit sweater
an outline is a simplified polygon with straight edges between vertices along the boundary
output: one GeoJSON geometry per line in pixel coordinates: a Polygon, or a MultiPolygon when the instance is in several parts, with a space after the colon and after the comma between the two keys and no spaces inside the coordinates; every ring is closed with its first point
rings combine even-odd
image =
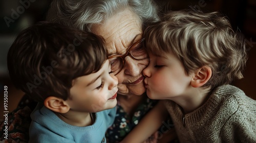
{"type": "Polygon", "coordinates": [[[211,77],[211,68],[209,66],[203,66],[195,71],[194,77],[191,80],[191,86],[201,87],[203,86],[211,77]]]}

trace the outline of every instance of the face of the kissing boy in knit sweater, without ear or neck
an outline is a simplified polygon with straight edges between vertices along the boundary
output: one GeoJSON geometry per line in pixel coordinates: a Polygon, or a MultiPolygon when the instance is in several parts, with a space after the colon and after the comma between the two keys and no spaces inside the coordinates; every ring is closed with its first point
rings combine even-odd
{"type": "Polygon", "coordinates": [[[150,64],[143,70],[147,96],[172,99],[186,95],[192,77],[185,74],[182,63],[172,54],[157,57],[150,54],[150,64]]]}

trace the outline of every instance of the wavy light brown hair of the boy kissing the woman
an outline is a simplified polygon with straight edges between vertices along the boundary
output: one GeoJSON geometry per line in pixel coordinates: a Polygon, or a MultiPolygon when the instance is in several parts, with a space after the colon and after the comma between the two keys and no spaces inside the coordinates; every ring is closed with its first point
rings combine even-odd
{"type": "Polygon", "coordinates": [[[212,76],[204,85],[212,88],[243,78],[247,53],[244,39],[219,12],[195,9],[169,11],[145,32],[146,50],[156,56],[172,52],[188,75],[204,65],[212,76]]]}

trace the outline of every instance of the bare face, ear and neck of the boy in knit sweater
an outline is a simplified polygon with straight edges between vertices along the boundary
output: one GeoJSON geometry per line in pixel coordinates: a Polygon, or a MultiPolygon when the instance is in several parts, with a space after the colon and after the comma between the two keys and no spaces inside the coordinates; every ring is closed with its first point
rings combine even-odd
{"type": "Polygon", "coordinates": [[[149,56],[150,64],[143,70],[149,98],[172,100],[185,113],[197,109],[207,100],[209,89],[201,86],[211,77],[209,66],[186,75],[181,61],[173,53],[163,54],[163,57],[150,53],[149,56]]]}

